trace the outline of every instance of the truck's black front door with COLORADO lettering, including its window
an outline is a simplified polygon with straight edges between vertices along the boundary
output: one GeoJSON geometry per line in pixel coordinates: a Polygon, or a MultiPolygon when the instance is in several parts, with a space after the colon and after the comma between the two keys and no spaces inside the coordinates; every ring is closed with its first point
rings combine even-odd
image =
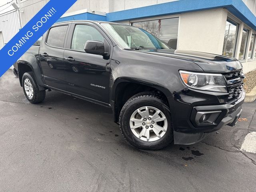
{"type": "Polygon", "coordinates": [[[104,36],[89,24],[73,24],[70,34],[64,51],[67,91],[109,104],[110,59],[84,51],[86,41],[104,42],[104,36]]]}

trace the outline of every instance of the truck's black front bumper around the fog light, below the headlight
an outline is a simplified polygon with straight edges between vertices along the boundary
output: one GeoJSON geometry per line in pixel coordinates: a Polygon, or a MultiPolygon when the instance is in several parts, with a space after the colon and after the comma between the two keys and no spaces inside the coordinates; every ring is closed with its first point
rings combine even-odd
{"type": "Polygon", "coordinates": [[[232,104],[193,106],[189,114],[188,126],[174,128],[174,144],[194,144],[225,125],[234,126],[242,113],[244,98],[243,91],[240,99],[232,104]],[[209,122],[200,124],[199,119],[209,113],[213,114],[209,122]]]}

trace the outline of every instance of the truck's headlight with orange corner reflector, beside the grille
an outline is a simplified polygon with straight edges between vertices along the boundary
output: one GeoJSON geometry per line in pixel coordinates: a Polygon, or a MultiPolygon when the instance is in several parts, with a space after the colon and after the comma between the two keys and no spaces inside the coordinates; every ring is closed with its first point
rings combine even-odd
{"type": "Polygon", "coordinates": [[[222,74],[194,73],[180,71],[183,82],[194,89],[214,92],[227,92],[226,81],[222,74]]]}

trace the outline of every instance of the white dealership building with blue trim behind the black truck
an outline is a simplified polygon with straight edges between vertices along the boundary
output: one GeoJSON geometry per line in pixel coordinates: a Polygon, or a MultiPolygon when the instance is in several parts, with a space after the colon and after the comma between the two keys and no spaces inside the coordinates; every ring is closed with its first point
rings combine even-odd
{"type": "MultiPolygon", "coordinates": [[[[24,26],[47,2],[18,0],[16,23],[24,26]]],[[[58,22],[68,20],[138,26],[171,48],[231,56],[244,72],[256,69],[256,0],[77,0],[58,22]]]]}

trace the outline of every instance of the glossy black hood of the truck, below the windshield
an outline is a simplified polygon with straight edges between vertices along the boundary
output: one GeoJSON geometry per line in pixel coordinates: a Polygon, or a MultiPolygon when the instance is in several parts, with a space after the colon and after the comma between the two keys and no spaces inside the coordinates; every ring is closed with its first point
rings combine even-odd
{"type": "Polygon", "coordinates": [[[228,73],[242,69],[242,64],[236,58],[231,58],[223,55],[174,49],[140,51],[148,54],[189,60],[202,68],[204,72],[228,73]]]}

